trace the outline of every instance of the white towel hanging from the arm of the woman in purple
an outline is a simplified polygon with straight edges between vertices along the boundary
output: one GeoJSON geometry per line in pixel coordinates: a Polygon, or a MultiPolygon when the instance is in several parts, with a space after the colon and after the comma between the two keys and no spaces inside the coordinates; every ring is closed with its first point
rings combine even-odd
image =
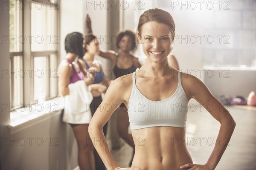
{"type": "Polygon", "coordinates": [[[90,103],[93,96],[84,80],[68,85],[70,94],[65,96],[63,122],[89,124],[92,119],[90,103]]]}

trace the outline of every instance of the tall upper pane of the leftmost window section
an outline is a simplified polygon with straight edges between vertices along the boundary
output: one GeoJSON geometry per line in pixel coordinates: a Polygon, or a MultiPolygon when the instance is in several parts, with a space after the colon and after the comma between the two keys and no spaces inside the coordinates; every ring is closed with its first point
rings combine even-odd
{"type": "Polygon", "coordinates": [[[19,52],[22,49],[23,36],[20,35],[22,32],[22,17],[21,10],[17,4],[20,4],[19,0],[9,1],[9,42],[10,42],[10,52],[19,52]]]}

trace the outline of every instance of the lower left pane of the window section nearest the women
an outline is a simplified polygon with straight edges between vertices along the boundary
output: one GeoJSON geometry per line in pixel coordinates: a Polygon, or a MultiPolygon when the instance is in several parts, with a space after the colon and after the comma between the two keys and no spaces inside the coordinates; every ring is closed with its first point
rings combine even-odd
{"type": "Polygon", "coordinates": [[[47,83],[49,76],[47,56],[34,58],[34,100],[47,96],[47,83]]]}

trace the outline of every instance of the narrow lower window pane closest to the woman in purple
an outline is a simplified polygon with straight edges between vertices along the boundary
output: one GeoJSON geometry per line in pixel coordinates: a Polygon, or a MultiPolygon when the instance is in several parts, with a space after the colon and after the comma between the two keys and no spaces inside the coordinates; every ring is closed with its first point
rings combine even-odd
{"type": "Polygon", "coordinates": [[[50,97],[57,96],[57,81],[58,81],[58,68],[57,68],[57,56],[55,54],[50,55],[50,97]]]}

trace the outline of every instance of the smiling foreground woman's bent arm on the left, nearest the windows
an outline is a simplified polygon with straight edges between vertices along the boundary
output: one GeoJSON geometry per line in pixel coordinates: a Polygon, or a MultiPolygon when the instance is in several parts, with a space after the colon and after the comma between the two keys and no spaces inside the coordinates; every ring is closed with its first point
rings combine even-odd
{"type": "Polygon", "coordinates": [[[109,86],[102,101],[102,107],[96,110],[89,124],[89,134],[92,138],[92,142],[108,170],[113,170],[118,166],[108,149],[108,144],[102,128],[106,122],[108,122],[108,119],[116,108],[124,102],[123,94],[116,93],[116,91],[124,91],[124,83],[122,79],[124,78],[119,77],[109,86]]]}

